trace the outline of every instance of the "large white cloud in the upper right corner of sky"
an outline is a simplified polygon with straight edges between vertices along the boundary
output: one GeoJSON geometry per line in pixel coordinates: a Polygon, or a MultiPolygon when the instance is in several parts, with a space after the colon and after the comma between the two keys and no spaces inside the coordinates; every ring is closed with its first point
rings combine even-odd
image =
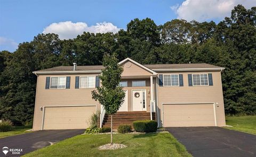
{"type": "Polygon", "coordinates": [[[256,0],[186,0],[181,5],[173,5],[171,9],[178,15],[178,19],[187,21],[222,20],[230,16],[234,6],[242,4],[247,9],[255,6],[256,0]]]}

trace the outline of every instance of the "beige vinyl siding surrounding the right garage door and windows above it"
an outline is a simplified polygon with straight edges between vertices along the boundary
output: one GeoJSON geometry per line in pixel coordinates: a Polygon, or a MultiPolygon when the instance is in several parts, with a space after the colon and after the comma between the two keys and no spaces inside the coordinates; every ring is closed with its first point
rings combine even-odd
{"type": "MultiPolygon", "coordinates": [[[[220,71],[198,71],[198,72],[161,72],[158,74],[179,73],[183,75],[184,86],[167,87],[158,86],[158,113],[159,125],[163,124],[162,104],[163,103],[206,103],[214,102],[217,126],[225,126],[225,110],[223,103],[221,73],[220,71]],[[188,86],[188,74],[212,73],[213,86],[188,86]]],[[[189,110],[189,108],[187,109],[189,110]]],[[[164,111],[165,112],[165,111],[164,111]]]]}

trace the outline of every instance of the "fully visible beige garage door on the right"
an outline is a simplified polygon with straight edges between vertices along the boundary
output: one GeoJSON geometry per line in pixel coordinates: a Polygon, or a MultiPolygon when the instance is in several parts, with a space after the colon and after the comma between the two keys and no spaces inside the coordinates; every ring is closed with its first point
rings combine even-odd
{"type": "Polygon", "coordinates": [[[212,104],[163,104],[164,127],[215,126],[212,104]]]}

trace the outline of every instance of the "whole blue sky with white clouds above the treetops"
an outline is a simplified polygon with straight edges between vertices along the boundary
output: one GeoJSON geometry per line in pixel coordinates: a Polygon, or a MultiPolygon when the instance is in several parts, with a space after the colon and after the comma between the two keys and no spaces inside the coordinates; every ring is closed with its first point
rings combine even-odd
{"type": "Polygon", "coordinates": [[[223,16],[229,15],[237,3],[244,3],[248,8],[256,4],[256,0],[229,0],[228,4],[224,0],[212,0],[211,4],[209,1],[205,3],[204,0],[191,1],[0,0],[0,51],[13,52],[19,43],[29,42],[42,32],[55,32],[62,39],[73,38],[82,31],[116,32],[125,29],[126,24],[134,18],[147,17],[153,19],[156,24],[176,18],[218,22],[223,16]],[[215,13],[214,8],[212,11],[207,9],[208,5],[221,7],[220,13],[215,13]]]}

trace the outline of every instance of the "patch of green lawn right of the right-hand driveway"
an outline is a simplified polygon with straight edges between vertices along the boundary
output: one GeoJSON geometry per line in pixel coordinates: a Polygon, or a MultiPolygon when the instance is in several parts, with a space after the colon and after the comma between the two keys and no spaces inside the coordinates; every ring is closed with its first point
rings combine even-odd
{"type": "Polygon", "coordinates": [[[227,129],[242,131],[245,133],[256,135],[256,115],[248,115],[241,117],[227,116],[226,125],[233,126],[225,127],[227,129]]]}

